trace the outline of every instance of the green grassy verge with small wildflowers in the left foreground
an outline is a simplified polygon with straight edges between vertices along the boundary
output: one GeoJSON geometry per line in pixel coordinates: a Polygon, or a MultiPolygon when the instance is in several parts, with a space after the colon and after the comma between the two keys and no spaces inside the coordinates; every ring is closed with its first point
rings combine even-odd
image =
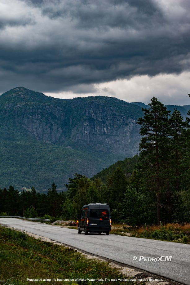
{"type": "MultiPolygon", "coordinates": [[[[113,282],[105,281],[104,278],[123,278],[123,275],[117,269],[110,267],[107,262],[86,259],[71,248],[42,242],[40,239],[29,237],[25,232],[2,226],[0,226],[0,260],[0,285],[113,285],[113,282]],[[34,282],[27,281],[27,278],[42,280],[34,282]],[[74,279],[74,281],[58,281],[57,278],[74,279]],[[79,281],[79,278],[103,278],[103,281],[79,281]]],[[[135,283],[128,281],[120,284],[135,283]]]]}

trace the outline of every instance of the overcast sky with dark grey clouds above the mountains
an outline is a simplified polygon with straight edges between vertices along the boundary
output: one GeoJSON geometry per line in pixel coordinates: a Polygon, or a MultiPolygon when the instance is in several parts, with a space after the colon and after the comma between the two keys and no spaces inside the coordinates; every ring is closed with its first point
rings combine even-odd
{"type": "Polygon", "coordinates": [[[189,105],[189,0],[0,0],[0,94],[189,105]]]}

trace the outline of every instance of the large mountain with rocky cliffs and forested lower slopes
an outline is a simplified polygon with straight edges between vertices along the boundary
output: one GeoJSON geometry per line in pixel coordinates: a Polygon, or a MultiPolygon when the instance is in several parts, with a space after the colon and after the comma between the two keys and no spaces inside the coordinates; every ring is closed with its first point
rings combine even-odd
{"type": "MultiPolygon", "coordinates": [[[[143,104],[143,103],[141,103],[143,104]]],[[[182,107],[182,106],[179,106],[182,107]]],[[[63,189],[138,153],[141,106],[103,96],[56,99],[16,87],[0,96],[0,187],[63,189]]]]}

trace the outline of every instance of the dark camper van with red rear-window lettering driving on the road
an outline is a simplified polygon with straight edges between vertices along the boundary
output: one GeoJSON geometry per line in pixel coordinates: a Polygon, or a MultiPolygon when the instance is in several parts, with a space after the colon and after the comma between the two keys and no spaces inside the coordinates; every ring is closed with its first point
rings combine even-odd
{"type": "Polygon", "coordinates": [[[108,204],[84,205],[77,217],[78,233],[109,234],[112,227],[111,213],[108,204]]]}

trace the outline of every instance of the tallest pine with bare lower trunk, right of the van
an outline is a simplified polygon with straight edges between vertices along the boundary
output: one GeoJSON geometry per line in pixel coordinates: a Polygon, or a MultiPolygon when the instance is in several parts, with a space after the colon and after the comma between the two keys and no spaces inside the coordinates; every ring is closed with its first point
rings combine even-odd
{"type": "Polygon", "coordinates": [[[151,103],[148,105],[150,106],[149,109],[142,109],[144,117],[137,121],[141,125],[140,134],[143,136],[139,149],[141,150],[143,166],[146,165],[146,177],[152,176],[151,190],[156,191],[157,223],[160,224],[161,208],[163,207],[161,205],[163,170],[165,170],[169,144],[168,115],[170,111],[155,97],[151,99],[151,103]]]}

